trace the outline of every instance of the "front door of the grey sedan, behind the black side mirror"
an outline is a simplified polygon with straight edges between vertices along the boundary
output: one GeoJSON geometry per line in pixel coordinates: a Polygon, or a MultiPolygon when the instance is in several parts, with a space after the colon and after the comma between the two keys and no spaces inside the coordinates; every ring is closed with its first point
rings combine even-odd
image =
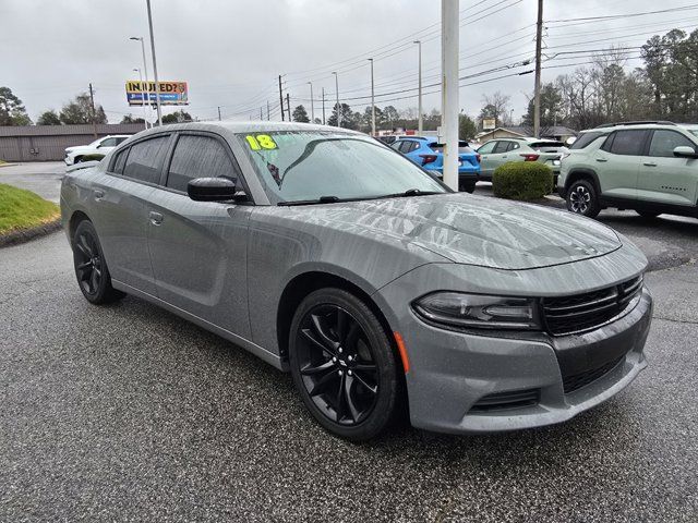
{"type": "MultiPolygon", "coordinates": [[[[246,256],[250,204],[194,202],[195,178],[243,180],[226,142],[181,133],[163,186],[148,202],[148,246],[160,300],[243,338],[250,336],[246,256]]],[[[249,193],[248,193],[249,194],[249,193]]]]}

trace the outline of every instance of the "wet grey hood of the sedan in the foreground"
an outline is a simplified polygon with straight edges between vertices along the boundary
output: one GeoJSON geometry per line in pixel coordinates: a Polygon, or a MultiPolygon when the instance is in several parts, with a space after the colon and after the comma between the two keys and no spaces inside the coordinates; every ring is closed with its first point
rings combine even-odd
{"type": "Polygon", "coordinates": [[[398,236],[455,263],[497,269],[566,264],[622,246],[613,230],[571,212],[464,193],[322,205],[312,212],[327,227],[398,236]]]}

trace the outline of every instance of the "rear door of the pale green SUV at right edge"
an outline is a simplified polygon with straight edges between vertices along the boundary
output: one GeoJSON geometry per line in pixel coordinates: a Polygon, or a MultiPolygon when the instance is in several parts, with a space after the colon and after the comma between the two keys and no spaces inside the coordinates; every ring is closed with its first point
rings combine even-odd
{"type": "Polygon", "coordinates": [[[593,154],[593,168],[604,197],[637,199],[637,179],[648,136],[647,130],[615,131],[593,154]]]}

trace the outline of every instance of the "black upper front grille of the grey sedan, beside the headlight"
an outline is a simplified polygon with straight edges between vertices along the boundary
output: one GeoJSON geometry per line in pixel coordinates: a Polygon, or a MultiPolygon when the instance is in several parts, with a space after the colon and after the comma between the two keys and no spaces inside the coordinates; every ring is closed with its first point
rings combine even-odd
{"type": "Polygon", "coordinates": [[[562,297],[544,297],[542,315],[553,336],[591,330],[623,313],[642,291],[642,276],[619,285],[562,297]]]}

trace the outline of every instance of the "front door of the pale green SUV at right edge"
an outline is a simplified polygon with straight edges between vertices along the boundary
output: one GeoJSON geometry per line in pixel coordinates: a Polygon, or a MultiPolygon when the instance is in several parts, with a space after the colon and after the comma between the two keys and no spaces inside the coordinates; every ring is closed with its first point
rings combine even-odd
{"type": "Polygon", "coordinates": [[[647,156],[642,157],[637,183],[638,199],[667,205],[696,205],[698,159],[677,158],[676,147],[698,145],[683,134],[658,129],[652,132],[647,156]]]}

